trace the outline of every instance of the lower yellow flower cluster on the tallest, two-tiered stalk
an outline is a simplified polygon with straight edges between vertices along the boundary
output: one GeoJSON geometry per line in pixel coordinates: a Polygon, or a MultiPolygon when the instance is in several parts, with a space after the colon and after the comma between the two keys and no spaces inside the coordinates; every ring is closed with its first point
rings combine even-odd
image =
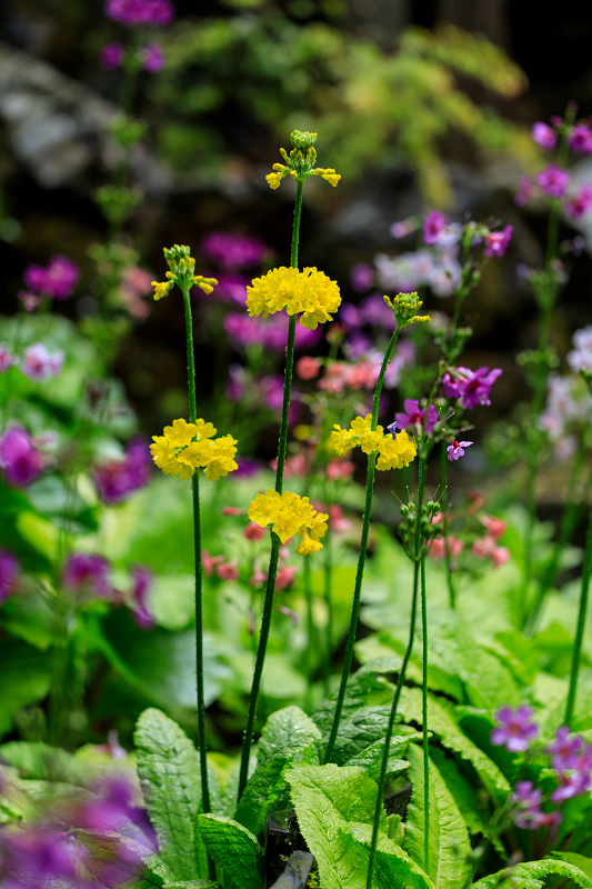
{"type": "Polygon", "coordinates": [[[327,531],[329,516],[317,512],[309,503],[308,497],[300,497],[290,491],[279,495],[278,491],[268,488],[265,493],[258,493],[251,501],[247,515],[261,528],[271,525],[282,543],[294,535],[302,533],[302,540],[297,548],[299,556],[310,556],[323,547],[320,538],[327,531]]]}

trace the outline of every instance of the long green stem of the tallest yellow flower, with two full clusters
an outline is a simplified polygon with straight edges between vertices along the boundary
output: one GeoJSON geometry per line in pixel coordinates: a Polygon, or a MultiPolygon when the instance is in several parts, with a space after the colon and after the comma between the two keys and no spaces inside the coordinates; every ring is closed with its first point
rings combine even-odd
{"type": "MultiPolygon", "coordinates": [[[[290,254],[290,264],[292,268],[298,268],[298,244],[300,238],[300,217],[302,211],[302,186],[303,182],[297,182],[297,198],[294,206],[294,221],[292,227],[292,250],[290,254]]],[[[282,493],[283,490],[283,467],[285,463],[285,448],[288,442],[288,416],[290,413],[290,394],[292,391],[292,372],[294,366],[294,337],[295,337],[297,316],[292,314],[288,324],[288,342],[285,347],[285,371],[283,377],[283,402],[282,402],[282,418],[280,423],[280,439],[278,442],[278,468],[275,470],[275,490],[282,493]]],[[[278,572],[278,559],[280,557],[280,538],[271,531],[271,552],[269,557],[269,571],[268,582],[265,586],[265,599],[263,602],[263,615],[261,617],[261,632],[259,635],[259,645],[257,648],[257,659],[253,672],[253,682],[251,686],[251,697],[249,700],[249,715],[247,717],[247,728],[242,739],[241,752],[241,769],[239,777],[239,795],[240,799],[247,786],[249,776],[249,758],[251,755],[251,743],[253,740],[254,719],[257,713],[257,699],[259,697],[259,689],[261,686],[261,675],[263,672],[263,663],[265,661],[265,649],[268,646],[269,630],[271,626],[271,612],[273,605],[273,591],[275,588],[275,575],[278,572]]]]}

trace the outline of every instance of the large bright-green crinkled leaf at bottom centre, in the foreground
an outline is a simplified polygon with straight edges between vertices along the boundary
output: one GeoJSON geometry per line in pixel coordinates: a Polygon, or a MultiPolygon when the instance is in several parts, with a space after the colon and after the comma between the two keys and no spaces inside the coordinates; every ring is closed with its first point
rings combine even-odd
{"type": "MultiPolygon", "coordinates": [[[[377,783],[361,769],[294,766],[285,775],[298,823],[317,858],[323,889],[365,889],[368,858],[350,835],[350,822],[371,825],[377,783]]],[[[383,815],[382,828],[387,829],[383,815]]],[[[384,838],[385,839],[385,838],[384,838]]],[[[377,889],[388,883],[377,881],[377,889]]]]}

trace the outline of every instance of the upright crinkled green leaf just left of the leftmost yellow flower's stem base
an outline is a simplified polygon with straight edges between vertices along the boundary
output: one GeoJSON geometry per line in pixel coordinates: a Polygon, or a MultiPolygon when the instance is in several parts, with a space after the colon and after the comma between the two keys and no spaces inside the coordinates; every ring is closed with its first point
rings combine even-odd
{"type": "Polygon", "coordinates": [[[194,833],[201,801],[199,756],[184,731],[160,710],[140,716],[134,733],[138,775],[162,860],[175,879],[207,872],[205,848],[194,833]]]}

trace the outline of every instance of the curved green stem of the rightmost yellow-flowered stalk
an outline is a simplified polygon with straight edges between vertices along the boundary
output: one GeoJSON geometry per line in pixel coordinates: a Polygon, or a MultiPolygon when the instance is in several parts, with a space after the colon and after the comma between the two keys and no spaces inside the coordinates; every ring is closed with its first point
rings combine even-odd
{"type": "MultiPolygon", "coordinates": [[[[394,343],[397,342],[398,336],[399,336],[399,327],[397,327],[397,329],[394,330],[391,340],[389,342],[389,346],[387,347],[387,351],[384,352],[384,358],[382,360],[382,367],[380,369],[379,378],[377,380],[377,387],[374,389],[374,400],[372,403],[372,423],[370,427],[373,431],[375,431],[378,426],[379,402],[380,402],[380,394],[382,392],[382,383],[384,382],[384,373],[387,372],[387,367],[391,359],[392,350],[394,349],[394,343]]],[[[360,555],[358,557],[358,570],[355,572],[355,586],[353,589],[353,602],[351,610],[350,629],[348,632],[348,642],[345,647],[345,661],[343,663],[341,682],[339,686],[338,698],[335,701],[333,725],[331,727],[331,733],[329,736],[327,750],[324,752],[324,762],[330,761],[331,756],[333,753],[333,747],[335,746],[335,740],[339,731],[339,723],[341,721],[341,713],[343,710],[343,701],[345,700],[345,690],[348,688],[348,678],[350,675],[351,662],[353,658],[353,646],[355,642],[355,631],[358,629],[358,613],[360,611],[360,596],[362,592],[362,580],[364,576],[368,533],[370,530],[370,515],[372,512],[372,493],[374,489],[374,468],[377,465],[377,456],[378,451],[373,451],[368,456],[368,472],[365,479],[365,503],[364,503],[364,515],[362,519],[362,537],[360,540],[360,555]]]]}

